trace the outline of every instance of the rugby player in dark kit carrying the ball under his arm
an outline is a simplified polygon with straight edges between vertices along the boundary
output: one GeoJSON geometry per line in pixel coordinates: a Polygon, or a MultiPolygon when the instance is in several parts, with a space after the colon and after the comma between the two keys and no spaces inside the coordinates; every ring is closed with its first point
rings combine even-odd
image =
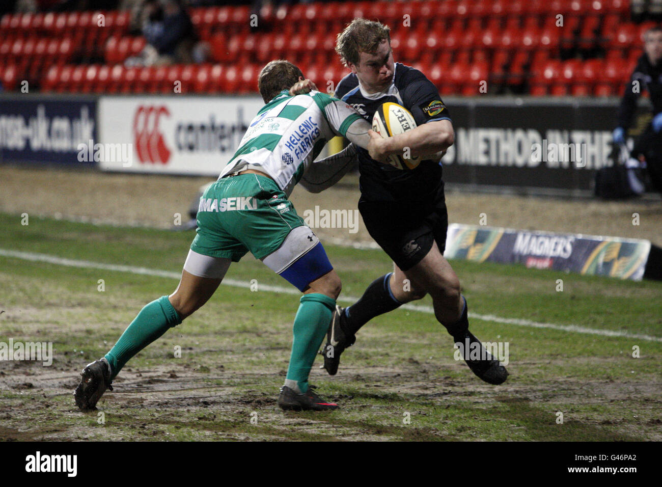
{"type": "MultiPolygon", "coordinates": [[[[344,151],[346,158],[358,158],[358,206],[363,222],[394,266],[393,272],[375,279],[356,303],[344,309],[336,306],[322,351],[324,368],[336,374],[340,354],[354,344],[355,333],[373,317],[430,294],[436,319],[461,344],[469,368],[485,382],[501,384],[508,372],[469,331],[467,300],[444,258],[448,214],[440,158],[454,136],[448,108],[422,72],[394,62],[387,26],[354,19],[338,34],[336,52],[352,73],[338,83],[334,96],[352,105],[367,121],[372,121],[383,103],[399,103],[412,113],[417,127],[387,138],[389,143],[380,146],[374,158],[354,144],[344,151]],[[403,147],[411,154],[436,156],[413,170],[379,163],[389,154],[404,155],[399,152],[403,147]],[[469,349],[479,349],[481,359],[470,358],[469,349]]],[[[334,158],[339,167],[350,166],[340,162],[342,153],[334,158]]],[[[307,186],[305,178],[302,183],[307,186]]]]}

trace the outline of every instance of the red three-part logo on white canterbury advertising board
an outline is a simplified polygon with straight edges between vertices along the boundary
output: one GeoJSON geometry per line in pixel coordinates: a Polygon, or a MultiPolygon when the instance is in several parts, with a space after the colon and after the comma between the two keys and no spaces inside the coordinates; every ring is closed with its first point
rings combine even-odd
{"type": "Polygon", "coordinates": [[[159,128],[161,117],[170,116],[165,105],[138,105],[133,117],[133,140],[140,162],[167,164],[170,149],[159,128]]]}

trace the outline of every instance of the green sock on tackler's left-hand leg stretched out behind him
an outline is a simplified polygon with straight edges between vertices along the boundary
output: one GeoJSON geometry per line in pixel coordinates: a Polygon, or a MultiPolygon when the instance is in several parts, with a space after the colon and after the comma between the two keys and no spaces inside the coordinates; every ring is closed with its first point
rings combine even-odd
{"type": "Polygon", "coordinates": [[[142,308],[111,351],[106,354],[106,360],[113,369],[111,380],[119,374],[132,356],[166,333],[167,329],[179,323],[181,323],[179,313],[172,307],[167,296],[162,296],[142,308]]]}

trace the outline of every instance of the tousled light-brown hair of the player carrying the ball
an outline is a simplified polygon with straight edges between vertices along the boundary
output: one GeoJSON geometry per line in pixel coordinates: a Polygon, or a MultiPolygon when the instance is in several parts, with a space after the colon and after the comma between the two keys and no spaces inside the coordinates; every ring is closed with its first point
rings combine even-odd
{"type": "Polygon", "coordinates": [[[391,28],[381,22],[354,19],[336,38],[336,52],[345,66],[359,63],[359,52],[375,54],[383,40],[391,42],[391,28]]]}

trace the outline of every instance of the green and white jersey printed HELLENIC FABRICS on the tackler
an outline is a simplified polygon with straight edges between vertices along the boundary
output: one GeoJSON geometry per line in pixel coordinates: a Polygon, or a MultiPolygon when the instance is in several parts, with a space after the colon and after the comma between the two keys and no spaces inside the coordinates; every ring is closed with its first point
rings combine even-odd
{"type": "Polygon", "coordinates": [[[271,176],[286,195],[301,180],[324,144],[361,116],[350,105],[320,91],[289,95],[287,90],[260,109],[239,148],[218,176],[254,169],[271,176]]]}

